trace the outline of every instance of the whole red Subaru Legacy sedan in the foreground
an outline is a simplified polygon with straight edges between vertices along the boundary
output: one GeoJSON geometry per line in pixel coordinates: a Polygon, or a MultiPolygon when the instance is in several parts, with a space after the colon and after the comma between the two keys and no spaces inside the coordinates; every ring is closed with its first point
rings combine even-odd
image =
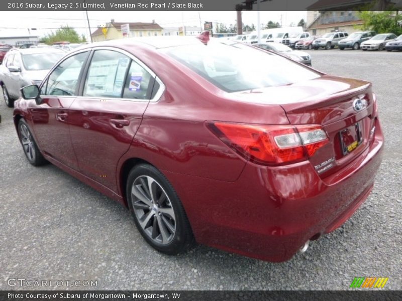
{"type": "Polygon", "coordinates": [[[383,135],[369,82],[195,38],[66,55],[22,89],[28,161],[128,207],[144,239],[269,261],[343,224],[370,193],[383,135]]]}

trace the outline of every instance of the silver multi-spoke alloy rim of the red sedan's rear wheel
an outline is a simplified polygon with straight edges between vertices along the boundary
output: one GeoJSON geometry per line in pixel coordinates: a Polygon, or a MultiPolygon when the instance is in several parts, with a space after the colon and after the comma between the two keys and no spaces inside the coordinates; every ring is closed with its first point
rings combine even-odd
{"type": "Polygon", "coordinates": [[[131,188],[135,216],[146,235],[159,245],[169,244],[176,232],[176,216],[169,197],[152,177],[140,176],[131,188]]]}

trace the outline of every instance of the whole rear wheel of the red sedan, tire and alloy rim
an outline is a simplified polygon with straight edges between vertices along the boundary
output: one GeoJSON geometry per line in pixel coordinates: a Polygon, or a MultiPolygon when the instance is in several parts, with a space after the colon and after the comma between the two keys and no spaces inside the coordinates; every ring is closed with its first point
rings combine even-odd
{"type": "Polygon", "coordinates": [[[160,171],[148,164],[134,167],[128,176],[126,191],[136,226],[152,247],[174,255],[193,245],[184,208],[160,171]]]}

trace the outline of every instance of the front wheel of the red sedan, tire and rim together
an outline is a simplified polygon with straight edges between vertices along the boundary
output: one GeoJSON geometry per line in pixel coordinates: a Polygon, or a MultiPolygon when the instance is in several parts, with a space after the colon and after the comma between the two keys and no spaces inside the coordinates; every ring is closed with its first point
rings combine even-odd
{"type": "Polygon", "coordinates": [[[47,163],[46,159],[41,154],[38,145],[36,144],[34,136],[32,135],[27,122],[25,122],[24,119],[21,119],[18,122],[18,136],[20,138],[25,157],[27,157],[29,163],[31,163],[33,166],[41,166],[47,163]]]}

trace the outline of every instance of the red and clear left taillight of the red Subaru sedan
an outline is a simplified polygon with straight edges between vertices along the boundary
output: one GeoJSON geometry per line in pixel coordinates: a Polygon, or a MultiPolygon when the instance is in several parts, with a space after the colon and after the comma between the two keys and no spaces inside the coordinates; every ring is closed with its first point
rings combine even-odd
{"type": "Polygon", "coordinates": [[[255,163],[281,165],[311,157],[329,142],[320,125],[257,125],[210,122],[208,127],[239,155],[255,163]]]}

